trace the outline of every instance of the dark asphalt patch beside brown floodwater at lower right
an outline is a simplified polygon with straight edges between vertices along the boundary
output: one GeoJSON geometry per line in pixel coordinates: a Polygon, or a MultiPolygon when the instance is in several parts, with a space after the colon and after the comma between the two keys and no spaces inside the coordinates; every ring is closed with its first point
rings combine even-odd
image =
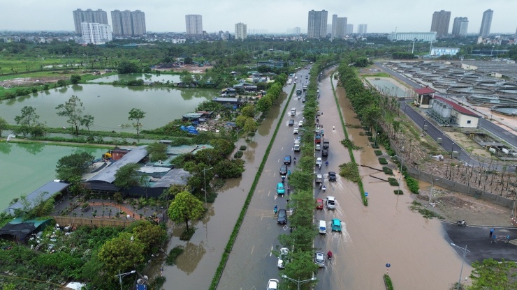
{"type": "MultiPolygon", "coordinates": [[[[468,221],[467,221],[468,222],[468,221]]],[[[505,243],[506,237],[510,236],[510,241],[517,238],[517,229],[507,227],[463,227],[458,224],[442,222],[442,225],[449,236],[451,243],[458,247],[467,246],[465,259],[472,263],[473,261],[482,261],[483,259],[505,259],[510,261],[517,260],[516,245],[505,243]],[[493,236],[490,237],[490,229],[494,229],[495,243],[493,236]]],[[[454,247],[458,254],[463,255],[463,251],[454,247]]]]}

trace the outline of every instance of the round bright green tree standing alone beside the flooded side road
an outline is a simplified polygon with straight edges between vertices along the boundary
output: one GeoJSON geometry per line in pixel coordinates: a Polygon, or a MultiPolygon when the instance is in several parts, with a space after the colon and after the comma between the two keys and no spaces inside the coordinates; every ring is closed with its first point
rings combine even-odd
{"type": "Polygon", "coordinates": [[[203,202],[189,192],[176,194],[167,211],[170,219],[174,222],[185,222],[187,231],[189,230],[189,221],[198,220],[204,212],[203,202]]]}

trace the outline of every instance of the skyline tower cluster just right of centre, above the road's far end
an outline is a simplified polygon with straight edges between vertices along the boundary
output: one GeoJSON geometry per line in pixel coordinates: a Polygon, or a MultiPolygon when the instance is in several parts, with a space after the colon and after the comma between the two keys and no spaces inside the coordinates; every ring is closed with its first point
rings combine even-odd
{"type": "MultiPolygon", "coordinates": [[[[344,38],[354,32],[354,24],[347,23],[347,17],[332,15],[332,24],[327,24],[328,11],[309,11],[309,24],[307,26],[307,38],[325,38],[330,33],[330,38],[344,38]]],[[[357,33],[364,34],[367,24],[359,24],[357,33]]]]}

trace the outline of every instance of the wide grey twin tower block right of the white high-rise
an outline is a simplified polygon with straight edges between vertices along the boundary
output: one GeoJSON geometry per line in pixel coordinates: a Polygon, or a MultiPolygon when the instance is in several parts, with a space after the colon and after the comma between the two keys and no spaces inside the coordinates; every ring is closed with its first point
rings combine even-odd
{"type": "Polygon", "coordinates": [[[145,28],[145,13],[140,10],[111,11],[111,23],[115,36],[143,36],[145,28]]]}

